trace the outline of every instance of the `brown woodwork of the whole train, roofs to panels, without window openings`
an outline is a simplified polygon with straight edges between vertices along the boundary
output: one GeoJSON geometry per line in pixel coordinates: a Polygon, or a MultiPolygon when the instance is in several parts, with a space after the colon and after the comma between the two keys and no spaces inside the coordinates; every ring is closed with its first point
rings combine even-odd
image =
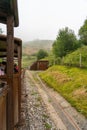
{"type": "Polygon", "coordinates": [[[7,36],[0,36],[0,57],[6,58],[7,73],[4,76],[0,76],[0,79],[7,81],[9,86],[6,99],[2,103],[5,104],[6,115],[0,114],[0,119],[2,119],[2,116],[5,117],[3,119],[6,120],[6,125],[0,122],[0,128],[1,130],[16,130],[15,126],[20,121],[22,43],[20,39],[14,38],[14,27],[19,25],[17,0],[0,0],[0,23],[7,25],[7,36]],[[18,59],[18,74],[14,74],[13,71],[14,57],[18,59]]]}

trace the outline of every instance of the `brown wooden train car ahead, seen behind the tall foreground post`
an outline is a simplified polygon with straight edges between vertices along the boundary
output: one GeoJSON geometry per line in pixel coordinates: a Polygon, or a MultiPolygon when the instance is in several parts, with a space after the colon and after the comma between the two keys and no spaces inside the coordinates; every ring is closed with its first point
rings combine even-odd
{"type": "Polygon", "coordinates": [[[10,71],[11,66],[7,65],[10,61],[7,60],[8,53],[6,40],[6,36],[0,35],[0,71],[3,72],[0,73],[0,130],[7,130],[4,128],[7,127],[6,124],[11,125],[11,121],[9,121],[11,113],[14,127],[20,120],[22,41],[21,39],[14,38],[14,68],[13,75],[9,75],[8,71],[10,71]],[[17,71],[15,71],[15,64],[18,66],[17,71]]]}

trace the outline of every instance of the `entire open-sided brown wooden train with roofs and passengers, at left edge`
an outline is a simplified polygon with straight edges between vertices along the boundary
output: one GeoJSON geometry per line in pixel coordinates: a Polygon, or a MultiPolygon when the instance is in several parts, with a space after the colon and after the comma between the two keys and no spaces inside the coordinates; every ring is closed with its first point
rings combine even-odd
{"type": "Polygon", "coordinates": [[[0,30],[0,130],[17,130],[21,123],[22,40],[14,37],[14,27],[19,25],[17,7],[17,0],[0,0],[0,23],[7,30],[6,35],[0,30]]]}

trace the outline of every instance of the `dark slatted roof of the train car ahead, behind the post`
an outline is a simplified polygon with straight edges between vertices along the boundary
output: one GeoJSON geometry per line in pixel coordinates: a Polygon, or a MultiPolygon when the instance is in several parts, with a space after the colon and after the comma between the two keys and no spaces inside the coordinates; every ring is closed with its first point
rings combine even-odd
{"type": "MultiPolygon", "coordinates": [[[[14,38],[14,57],[18,56],[18,46],[22,46],[22,40],[14,38]]],[[[0,57],[7,56],[7,36],[0,35],[0,57]]]]}

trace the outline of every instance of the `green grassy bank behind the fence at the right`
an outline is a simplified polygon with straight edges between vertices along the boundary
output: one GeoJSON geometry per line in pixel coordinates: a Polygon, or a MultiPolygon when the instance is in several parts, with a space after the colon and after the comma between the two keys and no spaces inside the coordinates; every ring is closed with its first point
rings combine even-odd
{"type": "Polygon", "coordinates": [[[76,51],[66,55],[62,59],[60,57],[55,58],[53,53],[49,53],[47,57],[50,65],[53,64],[64,64],[69,66],[86,67],[87,68],[87,46],[82,46],[76,51]]]}

